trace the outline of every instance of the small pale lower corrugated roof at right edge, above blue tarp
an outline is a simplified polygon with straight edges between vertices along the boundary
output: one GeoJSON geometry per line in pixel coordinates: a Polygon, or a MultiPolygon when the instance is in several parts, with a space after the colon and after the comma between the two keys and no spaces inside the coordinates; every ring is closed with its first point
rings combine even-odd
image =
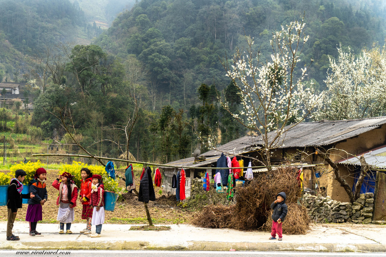
{"type": "Polygon", "coordinates": [[[359,157],[363,155],[366,163],[370,166],[386,169],[386,146],[375,148],[371,151],[357,155],[356,157],[348,158],[347,160],[340,161],[340,164],[350,164],[355,166],[361,166],[359,157]]]}

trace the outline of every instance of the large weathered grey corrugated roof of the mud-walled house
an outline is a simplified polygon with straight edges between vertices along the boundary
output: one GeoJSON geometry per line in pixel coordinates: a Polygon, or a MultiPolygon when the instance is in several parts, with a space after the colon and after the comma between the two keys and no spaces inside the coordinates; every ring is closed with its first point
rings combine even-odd
{"type": "MultiPolygon", "coordinates": [[[[275,145],[275,148],[327,146],[374,130],[385,123],[386,117],[374,117],[351,120],[302,122],[294,127],[288,125],[284,129],[288,129],[288,131],[285,135],[281,136],[280,140],[275,145]]],[[[271,139],[275,136],[276,132],[268,133],[268,137],[271,139]]],[[[210,163],[215,163],[222,152],[231,155],[241,155],[259,149],[261,146],[263,146],[261,136],[244,136],[218,147],[218,150],[211,150],[202,154],[202,156],[207,157],[207,161],[205,162],[197,163],[194,162],[194,157],[190,157],[167,164],[201,167],[210,163]],[[211,159],[213,159],[212,162],[211,159]]]]}

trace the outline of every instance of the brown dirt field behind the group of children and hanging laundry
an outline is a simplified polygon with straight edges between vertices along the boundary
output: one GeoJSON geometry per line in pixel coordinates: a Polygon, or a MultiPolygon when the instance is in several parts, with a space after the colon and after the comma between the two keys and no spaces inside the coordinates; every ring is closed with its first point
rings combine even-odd
{"type": "MultiPolygon", "coordinates": [[[[43,220],[42,223],[58,223],[56,217],[58,214],[58,206],[56,205],[56,199],[58,196],[58,190],[52,187],[52,182],[57,178],[59,174],[58,170],[47,171],[47,191],[48,201],[43,206],[43,220]]],[[[116,171],[116,174],[124,177],[123,171],[116,171]]],[[[119,178],[119,186],[125,188],[125,182],[119,178]]],[[[137,190],[139,189],[139,176],[136,176],[137,190]]],[[[156,200],[148,203],[149,211],[154,224],[178,224],[189,223],[194,213],[183,210],[177,206],[175,196],[166,197],[161,195],[159,191],[161,187],[155,188],[156,200]]],[[[138,201],[138,197],[134,193],[122,194],[117,201],[114,212],[106,211],[105,223],[115,224],[146,224],[146,212],[142,202],[138,201]]],[[[75,221],[84,222],[81,219],[82,206],[78,201],[75,207],[75,221]]],[[[27,204],[23,204],[23,208],[19,209],[16,216],[16,220],[23,221],[26,217],[27,204]]],[[[0,206],[0,221],[6,221],[8,215],[7,206],[0,206]]]]}

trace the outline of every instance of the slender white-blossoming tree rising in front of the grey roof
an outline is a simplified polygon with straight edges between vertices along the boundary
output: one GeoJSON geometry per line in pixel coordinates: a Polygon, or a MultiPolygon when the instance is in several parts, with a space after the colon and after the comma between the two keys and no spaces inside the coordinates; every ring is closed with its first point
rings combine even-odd
{"type": "Polygon", "coordinates": [[[227,76],[239,89],[243,110],[238,115],[229,110],[226,101],[222,104],[241,124],[261,135],[266,165],[271,163],[271,150],[283,145],[285,133],[303,121],[318,101],[311,89],[304,88],[307,67],[297,67],[309,39],[304,27],[303,19],[273,33],[269,60],[261,60],[253,38],[247,36],[247,49],[236,50],[230,63],[223,60],[227,76]]]}

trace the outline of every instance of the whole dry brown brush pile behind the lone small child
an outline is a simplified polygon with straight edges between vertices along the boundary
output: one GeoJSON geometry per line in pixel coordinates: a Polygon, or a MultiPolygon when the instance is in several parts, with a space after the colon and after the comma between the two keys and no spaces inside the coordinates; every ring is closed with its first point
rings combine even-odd
{"type": "Polygon", "coordinates": [[[279,192],[285,192],[288,206],[283,233],[306,233],[309,228],[307,209],[298,203],[301,188],[296,172],[289,167],[260,174],[245,187],[237,187],[235,205],[209,205],[193,223],[200,227],[270,230],[270,205],[279,192]]]}

